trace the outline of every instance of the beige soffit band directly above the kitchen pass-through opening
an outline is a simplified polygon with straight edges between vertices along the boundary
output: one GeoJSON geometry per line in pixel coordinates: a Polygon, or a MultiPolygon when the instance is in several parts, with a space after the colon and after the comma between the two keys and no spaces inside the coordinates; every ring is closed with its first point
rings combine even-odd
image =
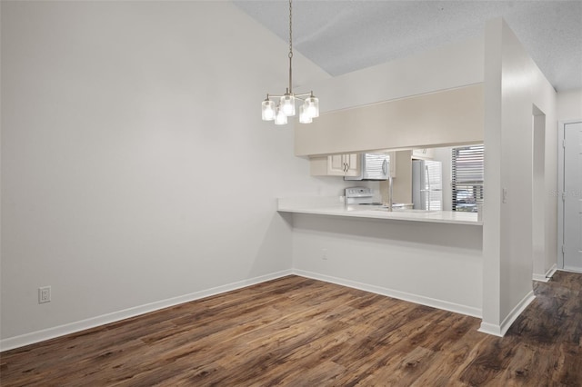
{"type": "Polygon", "coordinates": [[[483,84],[472,84],[321,114],[295,125],[295,154],[482,143],[483,127],[483,84]]]}

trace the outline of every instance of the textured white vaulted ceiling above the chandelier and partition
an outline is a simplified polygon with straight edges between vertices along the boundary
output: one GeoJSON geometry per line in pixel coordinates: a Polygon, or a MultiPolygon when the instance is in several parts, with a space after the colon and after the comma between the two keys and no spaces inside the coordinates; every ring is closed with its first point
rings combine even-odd
{"type": "MultiPolygon", "coordinates": [[[[288,41],[286,1],[234,3],[288,41]]],[[[557,91],[582,87],[582,0],[296,0],[293,47],[328,74],[346,74],[482,35],[497,16],[557,91]]]]}

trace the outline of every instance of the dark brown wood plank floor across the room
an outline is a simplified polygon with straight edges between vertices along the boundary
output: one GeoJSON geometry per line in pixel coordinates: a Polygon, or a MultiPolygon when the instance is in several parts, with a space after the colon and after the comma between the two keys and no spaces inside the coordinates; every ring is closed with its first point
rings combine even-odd
{"type": "Polygon", "coordinates": [[[479,320],[289,276],[0,354],[2,386],[581,386],[582,274],[479,320]]]}

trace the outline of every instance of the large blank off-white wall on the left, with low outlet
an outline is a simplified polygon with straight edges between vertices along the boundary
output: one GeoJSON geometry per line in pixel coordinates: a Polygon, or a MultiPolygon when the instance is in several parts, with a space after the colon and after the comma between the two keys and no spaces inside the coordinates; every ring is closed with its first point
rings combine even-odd
{"type": "Polygon", "coordinates": [[[260,120],[286,42],[230,3],[2,2],[1,32],[3,349],[287,273],[275,198],[346,185],[260,120]]]}

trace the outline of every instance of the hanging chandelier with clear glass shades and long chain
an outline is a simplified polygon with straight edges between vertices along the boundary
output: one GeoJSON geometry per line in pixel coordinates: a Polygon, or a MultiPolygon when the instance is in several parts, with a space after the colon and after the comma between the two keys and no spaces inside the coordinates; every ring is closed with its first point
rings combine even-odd
{"type": "Polygon", "coordinates": [[[263,121],[275,121],[276,125],[286,124],[287,117],[296,114],[296,101],[303,102],[299,107],[299,122],[301,124],[309,124],[315,117],[319,116],[319,100],[313,92],[304,94],[293,93],[293,19],[291,1],[289,0],[289,87],[286,88],[286,92],[283,95],[267,93],[266,99],[262,104],[263,121]],[[275,104],[274,99],[278,99],[278,104],[275,104]]]}

